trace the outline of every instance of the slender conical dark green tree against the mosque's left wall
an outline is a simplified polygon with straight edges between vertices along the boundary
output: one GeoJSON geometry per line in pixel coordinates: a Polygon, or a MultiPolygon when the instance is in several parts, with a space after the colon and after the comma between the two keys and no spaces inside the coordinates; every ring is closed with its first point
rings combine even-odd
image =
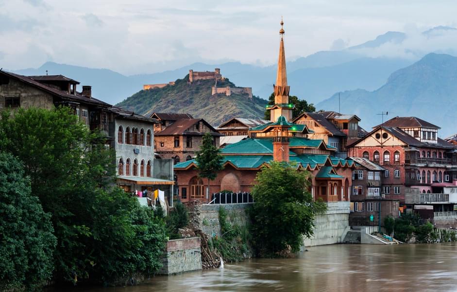
{"type": "Polygon", "coordinates": [[[218,172],[223,169],[222,166],[222,155],[220,155],[220,149],[215,146],[214,139],[209,132],[206,132],[203,136],[203,143],[200,147],[200,151],[197,152],[197,169],[199,170],[199,176],[201,178],[208,179],[208,192],[209,182],[216,179],[218,172]]]}

